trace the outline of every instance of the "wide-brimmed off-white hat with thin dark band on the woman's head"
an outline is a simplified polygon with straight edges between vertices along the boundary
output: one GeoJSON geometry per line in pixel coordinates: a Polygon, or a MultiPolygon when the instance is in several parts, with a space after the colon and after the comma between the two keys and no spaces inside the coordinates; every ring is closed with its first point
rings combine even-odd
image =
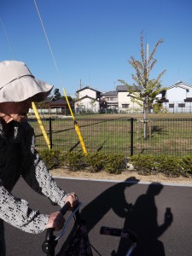
{"type": "Polygon", "coordinates": [[[42,102],[53,85],[36,79],[24,62],[0,62],[0,102],[42,102]]]}

